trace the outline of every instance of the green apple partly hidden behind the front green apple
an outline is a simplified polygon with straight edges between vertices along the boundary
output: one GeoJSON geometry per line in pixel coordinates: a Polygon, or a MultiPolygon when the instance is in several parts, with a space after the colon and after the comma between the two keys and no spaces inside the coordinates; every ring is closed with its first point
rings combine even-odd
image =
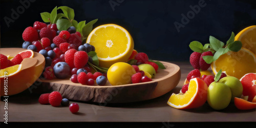
{"type": "Polygon", "coordinates": [[[231,90],[231,101],[234,101],[234,97],[240,98],[243,94],[243,85],[241,81],[233,76],[226,76],[219,80],[219,82],[225,83],[231,90]]]}

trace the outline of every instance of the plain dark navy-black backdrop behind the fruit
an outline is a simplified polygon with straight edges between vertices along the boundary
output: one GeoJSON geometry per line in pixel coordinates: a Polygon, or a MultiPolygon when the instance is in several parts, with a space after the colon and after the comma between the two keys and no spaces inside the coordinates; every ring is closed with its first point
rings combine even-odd
{"type": "MultiPolygon", "coordinates": [[[[29,1],[29,0],[21,0],[29,1]]],[[[32,1],[32,0],[31,0],[32,1]]],[[[193,52],[188,45],[193,40],[209,43],[209,36],[226,42],[231,32],[237,34],[245,27],[256,24],[256,1],[205,0],[206,6],[177,31],[174,23],[181,23],[181,14],[187,15],[195,1],[80,1],[80,0],[33,0],[28,9],[19,14],[14,23],[7,24],[4,17],[11,18],[11,9],[22,4],[19,1],[1,0],[1,48],[22,48],[22,33],[35,21],[42,22],[41,12],[51,12],[55,6],[68,6],[75,11],[75,19],[87,23],[98,18],[94,28],[114,23],[127,29],[135,43],[134,49],[145,52],[150,59],[164,61],[189,61],[193,52]],[[114,9],[110,3],[117,3],[114,9]],[[119,3],[118,3],[119,2],[119,3]]]]}

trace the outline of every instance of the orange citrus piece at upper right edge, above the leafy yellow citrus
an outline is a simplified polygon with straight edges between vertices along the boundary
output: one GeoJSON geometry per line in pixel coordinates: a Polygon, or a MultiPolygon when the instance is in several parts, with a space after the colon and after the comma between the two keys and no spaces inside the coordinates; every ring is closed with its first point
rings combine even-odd
{"type": "Polygon", "coordinates": [[[234,40],[240,40],[243,47],[256,54],[256,26],[250,26],[240,31],[234,40]]]}

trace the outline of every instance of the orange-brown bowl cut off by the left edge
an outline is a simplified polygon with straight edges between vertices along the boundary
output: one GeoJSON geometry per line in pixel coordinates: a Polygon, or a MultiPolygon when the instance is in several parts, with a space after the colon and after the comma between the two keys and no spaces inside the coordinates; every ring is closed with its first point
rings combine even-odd
{"type": "MultiPolygon", "coordinates": [[[[22,48],[1,48],[0,53],[15,56],[25,51],[22,48]]],[[[45,57],[34,52],[33,58],[25,58],[22,61],[22,70],[8,77],[8,96],[15,95],[28,89],[41,75],[45,68],[45,57]]],[[[4,95],[4,78],[1,79],[1,96],[4,95]]]]}

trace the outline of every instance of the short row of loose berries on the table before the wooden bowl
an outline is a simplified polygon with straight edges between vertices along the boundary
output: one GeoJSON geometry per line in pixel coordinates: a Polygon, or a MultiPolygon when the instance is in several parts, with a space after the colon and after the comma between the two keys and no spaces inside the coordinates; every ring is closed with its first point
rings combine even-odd
{"type": "Polygon", "coordinates": [[[52,106],[69,106],[69,110],[71,113],[77,113],[79,110],[79,105],[77,103],[69,104],[69,100],[67,98],[62,98],[61,94],[57,91],[52,93],[41,94],[38,102],[40,104],[51,104],[52,106]]]}

